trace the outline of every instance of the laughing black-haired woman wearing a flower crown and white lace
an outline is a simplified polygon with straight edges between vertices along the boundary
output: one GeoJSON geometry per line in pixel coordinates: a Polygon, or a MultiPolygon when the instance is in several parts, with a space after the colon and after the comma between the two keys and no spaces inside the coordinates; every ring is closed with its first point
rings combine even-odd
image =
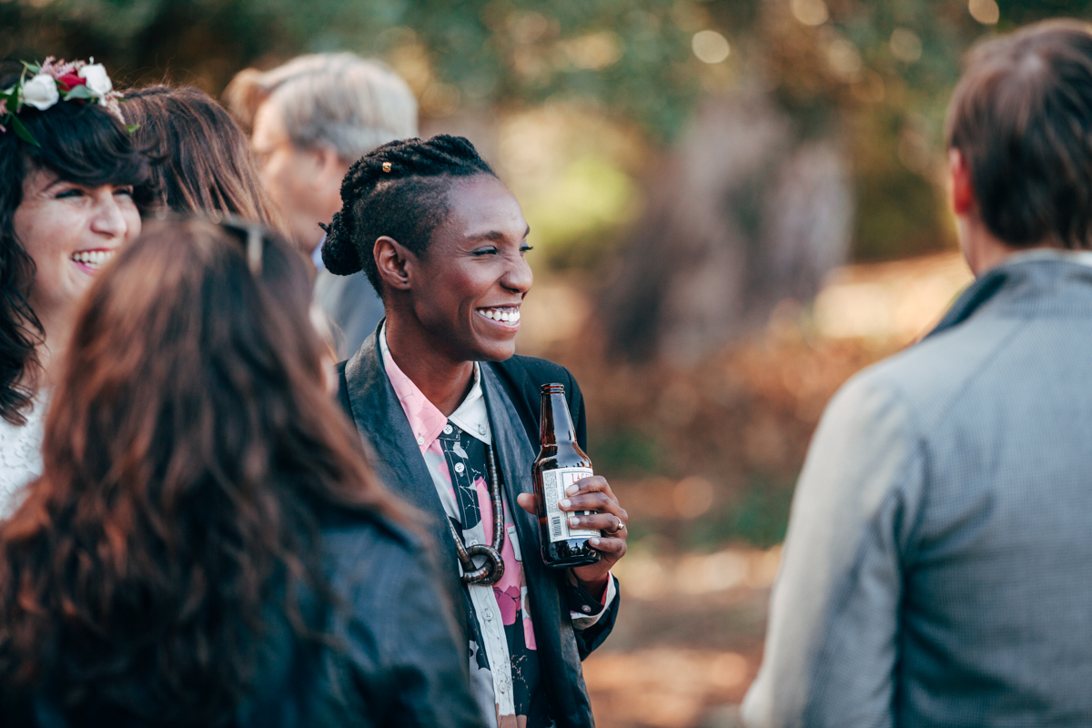
{"type": "Polygon", "coordinates": [[[0,518],[41,468],[81,294],[141,228],[149,155],[100,63],[0,63],[0,518]],[[139,196],[139,195],[138,195],[139,196]]]}

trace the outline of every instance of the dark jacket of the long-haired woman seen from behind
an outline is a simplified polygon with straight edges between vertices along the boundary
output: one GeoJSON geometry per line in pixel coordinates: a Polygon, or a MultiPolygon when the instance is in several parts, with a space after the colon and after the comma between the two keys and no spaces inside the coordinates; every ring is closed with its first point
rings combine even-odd
{"type": "MultiPolygon", "coordinates": [[[[308,625],[332,646],[301,641],[283,613],[266,616],[256,691],[236,728],[484,728],[467,684],[466,641],[420,538],[378,516],[325,513],[322,549],[339,605],[300,595],[308,625]]],[[[0,725],[149,728],[155,699],[64,716],[47,695],[0,695],[0,725]]]]}

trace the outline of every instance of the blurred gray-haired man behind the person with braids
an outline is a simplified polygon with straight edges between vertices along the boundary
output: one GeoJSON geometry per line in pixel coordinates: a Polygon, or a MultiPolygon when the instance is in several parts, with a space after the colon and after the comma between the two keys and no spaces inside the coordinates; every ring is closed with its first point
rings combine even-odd
{"type": "Polygon", "coordinates": [[[252,127],[262,181],[314,261],[314,298],[339,330],[337,355],[344,359],[375,331],[383,305],[363,274],[325,271],[319,223],[341,210],[342,178],[354,162],[380,144],[417,135],[413,92],[379,61],[319,53],[271,71],[241,71],[225,97],[252,127]]]}

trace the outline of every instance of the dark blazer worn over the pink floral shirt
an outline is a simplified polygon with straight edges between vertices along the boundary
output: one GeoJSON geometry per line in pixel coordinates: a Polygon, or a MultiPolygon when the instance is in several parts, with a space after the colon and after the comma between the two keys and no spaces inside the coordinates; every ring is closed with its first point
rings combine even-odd
{"type": "MultiPolygon", "coordinates": [[[[432,533],[442,535],[436,539],[441,578],[450,589],[455,620],[463,630],[460,644],[465,651],[468,645],[466,613],[454,545],[447,535],[443,506],[425,458],[382,366],[376,334],[339,369],[339,399],[373,449],[376,469],[391,490],[426,514],[432,533]]],[[[534,492],[531,465],[538,453],[538,386],[547,382],[566,385],[569,408],[583,446],[586,431],[583,398],[567,369],[530,357],[482,363],[482,385],[490,419],[505,418],[522,425],[522,431],[520,428],[494,428],[494,439],[505,494],[513,506],[511,513],[524,552],[538,551],[538,524],[531,514],[515,506],[515,498],[521,492],[534,492]]],[[[571,587],[565,572],[547,568],[541,559],[525,559],[523,568],[550,716],[558,728],[591,728],[595,721],[580,661],[610,633],[619,599],[615,598],[595,625],[578,632],[569,618],[566,594],[571,587]]]]}

